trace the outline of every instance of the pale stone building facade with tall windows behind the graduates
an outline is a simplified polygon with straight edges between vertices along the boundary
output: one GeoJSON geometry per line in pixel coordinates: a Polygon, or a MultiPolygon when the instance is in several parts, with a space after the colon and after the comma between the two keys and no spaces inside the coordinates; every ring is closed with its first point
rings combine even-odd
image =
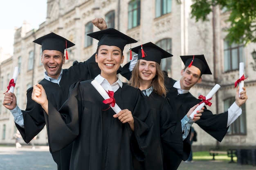
{"type": "MultiPolygon", "coordinates": [[[[10,59],[0,65],[0,92],[6,91],[7,84],[15,66],[20,67],[15,94],[18,105],[26,108],[26,89],[36,84],[44,77],[44,68],[40,63],[41,48],[32,41],[50,32],[66,37],[74,42],[68,50],[69,60],[63,68],[68,68],[75,60],[85,61],[97,48],[97,40],[86,36],[99,31],[92,25],[95,17],[103,17],[108,27],[114,27],[138,40],[132,47],[153,42],[161,46],[173,57],[162,61],[163,70],[169,76],[178,80],[184,67],[180,55],[204,54],[213,75],[203,75],[202,83],[191,89],[194,96],[207,95],[211,88],[220,84],[221,88],[213,96],[213,105],[209,108],[214,114],[227,110],[234,102],[236,89],[234,82],[239,76],[239,62],[245,63],[245,81],[248,100],[243,107],[243,116],[232,124],[222,142],[209,136],[196,124],[198,142],[194,146],[255,146],[256,116],[254,114],[254,96],[256,96],[256,76],[250,63],[254,62],[251,52],[255,44],[243,46],[232,44],[225,40],[228,25],[225,19],[228,12],[218,8],[213,9],[208,22],[195,22],[191,19],[191,0],[48,0],[47,18],[40,24],[38,30],[18,28],[14,38],[14,52],[10,59]]],[[[125,63],[129,61],[129,48],[126,46],[125,63]]],[[[120,77],[123,81],[124,78],[120,77]]],[[[0,98],[2,103],[3,98],[0,98]]],[[[16,131],[13,116],[1,105],[0,107],[0,143],[14,143],[13,133],[16,131]]],[[[37,144],[47,143],[46,129],[41,131],[37,144]]]]}

